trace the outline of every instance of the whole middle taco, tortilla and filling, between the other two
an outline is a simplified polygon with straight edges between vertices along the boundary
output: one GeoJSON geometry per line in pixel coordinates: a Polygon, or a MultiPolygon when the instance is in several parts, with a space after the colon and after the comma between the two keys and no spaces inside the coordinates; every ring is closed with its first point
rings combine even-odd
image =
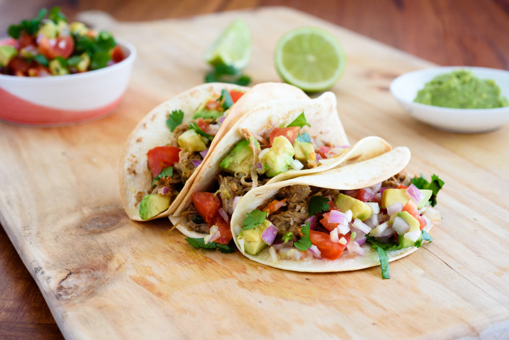
{"type": "Polygon", "coordinates": [[[211,235],[216,226],[221,236],[214,240],[228,244],[230,218],[249,190],[388,150],[377,137],[350,148],[330,92],[316,99],[267,101],[218,142],[169,219],[191,238],[211,235]]]}

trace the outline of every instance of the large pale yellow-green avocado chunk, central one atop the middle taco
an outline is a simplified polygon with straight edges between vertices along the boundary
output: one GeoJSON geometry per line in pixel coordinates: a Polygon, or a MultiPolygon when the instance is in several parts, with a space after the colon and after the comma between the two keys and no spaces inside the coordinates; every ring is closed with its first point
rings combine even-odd
{"type": "Polygon", "coordinates": [[[274,177],[288,171],[294,155],[295,150],[286,137],[275,137],[272,141],[272,147],[260,157],[265,175],[274,177]]]}

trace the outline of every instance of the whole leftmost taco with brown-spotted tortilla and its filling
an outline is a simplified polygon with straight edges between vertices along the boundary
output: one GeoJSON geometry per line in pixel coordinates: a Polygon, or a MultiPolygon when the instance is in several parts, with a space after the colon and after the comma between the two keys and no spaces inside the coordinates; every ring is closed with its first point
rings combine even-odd
{"type": "Polygon", "coordinates": [[[247,111],[275,98],[308,98],[283,83],[249,88],[226,83],[194,87],[154,108],[129,135],[119,184],[133,220],[175,212],[222,136],[247,111]]]}

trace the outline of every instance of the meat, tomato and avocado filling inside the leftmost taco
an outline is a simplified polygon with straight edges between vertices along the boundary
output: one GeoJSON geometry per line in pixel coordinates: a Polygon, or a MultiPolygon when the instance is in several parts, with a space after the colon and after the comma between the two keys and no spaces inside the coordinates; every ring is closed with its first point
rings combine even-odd
{"type": "MultiPolygon", "coordinates": [[[[196,109],[191,122],[183,122],[182,110],[168,114],[166,125],[173,136],[166,145],[147,152],[148,167],[153,179],[150,193],[145,194],[143,199],[140,197],[140,218],[151,219],[169,208],[202,163],[222,122],[243,94],[223,89],[219,97],[207,98],[196,109]]],[[[204,213],[203,216],[207,223],[215,217],[210,213],[204,213]]],[[[216,224],[219,225],[219,222],[216,224]]]]}

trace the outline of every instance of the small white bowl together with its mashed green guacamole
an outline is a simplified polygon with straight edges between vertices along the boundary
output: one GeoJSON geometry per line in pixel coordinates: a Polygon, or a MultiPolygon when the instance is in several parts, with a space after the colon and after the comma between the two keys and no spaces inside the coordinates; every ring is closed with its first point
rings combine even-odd
{"type": "Polygon", "coordinates": [[[509,106],[505,106],[509,71],[433,67],[399,76],[391,82],[390,92],[410,115],[439,129],[476,133],[509,123],[509,106]]]}

